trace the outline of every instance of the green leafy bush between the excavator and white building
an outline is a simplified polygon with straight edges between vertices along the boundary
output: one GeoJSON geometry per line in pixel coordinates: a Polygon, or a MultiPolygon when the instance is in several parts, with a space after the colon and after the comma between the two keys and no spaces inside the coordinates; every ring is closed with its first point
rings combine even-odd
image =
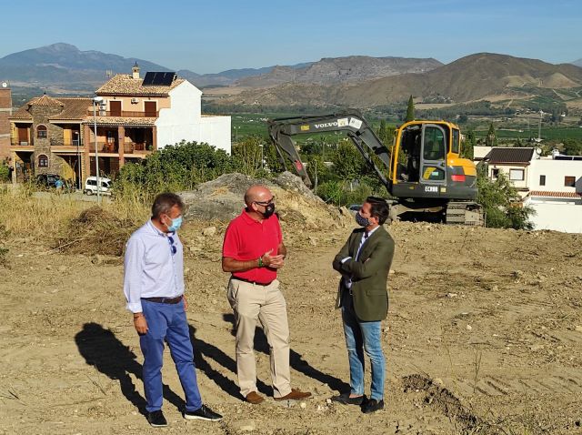
{"type": "Polygon", "coordinates": [[[531,207],[524,207],[517,188],[503,174],[497,179],[487,177],[487,167],[479,167],[477,173],[477,202],[486,214],[487,227],[532,229],[529,217],[535,213],[531,207]]]}

